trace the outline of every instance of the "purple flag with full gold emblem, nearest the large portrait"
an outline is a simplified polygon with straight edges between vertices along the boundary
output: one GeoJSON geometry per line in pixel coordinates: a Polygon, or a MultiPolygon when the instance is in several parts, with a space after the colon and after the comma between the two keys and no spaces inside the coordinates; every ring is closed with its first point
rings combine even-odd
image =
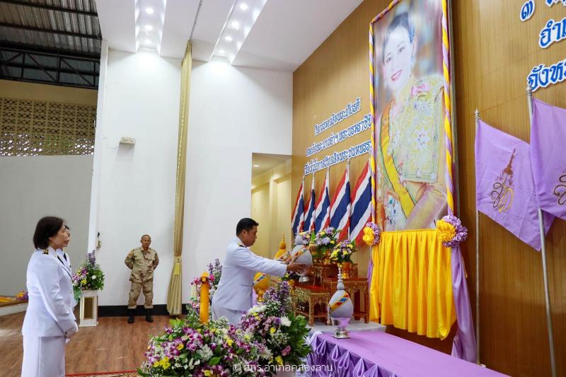
{"type": "MultiPolygon", "coordinates": [[[[481,120],[475,133],[475,207],[541,250],[530,146],[481,120]]],[[[548,232],[554,216],[543,214],[548,232]]]]}

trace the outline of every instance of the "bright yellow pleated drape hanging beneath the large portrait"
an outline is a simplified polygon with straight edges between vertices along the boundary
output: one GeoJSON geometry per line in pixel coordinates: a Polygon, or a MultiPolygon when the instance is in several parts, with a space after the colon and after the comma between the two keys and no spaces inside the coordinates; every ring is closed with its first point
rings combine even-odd
{"type": "Polygon", "coordinates": [[[370,319],[444,339],[456,321],[451,249],[436,229],[381,233],[372,248],[370,319]]]}

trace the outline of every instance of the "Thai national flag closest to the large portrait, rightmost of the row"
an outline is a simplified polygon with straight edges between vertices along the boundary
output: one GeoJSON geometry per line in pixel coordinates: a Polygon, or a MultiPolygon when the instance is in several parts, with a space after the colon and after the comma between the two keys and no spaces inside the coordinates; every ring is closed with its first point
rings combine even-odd
{"type": "Polygon", "coordinates": [[[362,243],[364,226],[371,221],[371,169],[369,162],[359,176],[352,192],[352,216],[350,216],[350,240],[362,243]]]}

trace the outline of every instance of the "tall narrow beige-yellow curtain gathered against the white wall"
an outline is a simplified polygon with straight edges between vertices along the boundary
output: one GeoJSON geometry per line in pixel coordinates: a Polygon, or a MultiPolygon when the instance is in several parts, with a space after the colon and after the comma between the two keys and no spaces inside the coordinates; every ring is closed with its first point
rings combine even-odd
{"type": "Polygon", "coordinates": [[[189,126],[190,71],[192,45],[187,42],[181,63],[181,91],[179,107],[179,136],[177,144],[177,179],[175,184],[175,224],[173,228],[173,269],[167,291],[167,311],[181,313],[181,255],[183,254],[183,218],[185,216],[185,170],[187,168],[187,129],[189,126]]]}

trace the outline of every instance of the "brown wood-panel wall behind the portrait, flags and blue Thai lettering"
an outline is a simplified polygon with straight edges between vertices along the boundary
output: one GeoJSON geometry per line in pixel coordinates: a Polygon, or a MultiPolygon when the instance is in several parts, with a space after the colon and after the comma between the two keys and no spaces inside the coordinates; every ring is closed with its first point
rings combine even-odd
{"type": "MultiPolygon", "coordinates": [[[[313,125],[357,97],[362,98],[362,110],[335,125],[333,131],[362,120],[369,112],[369,22],[388,2],[363,1],[294,73],[291,205],[307,161],[306,148],[329,134],[315,137],[313,125]]],[[[458,190],[460,216],[470,230],[463,257],[474,316],[475,109],[488,124],[529,141],[526,76],[536,64],[549,65],[566,58],[566,41],[545,50],[538,47],[538,34],[546,21],[566,17],[566,7],[557,4],[548,8],[542,0],[535,2],[533,17],[523,23],[519,21],[522,0],[452,1],[458,190]]],[[[566,83],[539,89],[535,97],[566,108],[566,83]]],[[[369,131],[364,132],[327,151],[340,151],[370,136],[369,131]]],[[[352,160],[352,186],[365,162],[364,157],[352,160]]],[[[330,169],[330,195],[344,168],[345,163],[340,163],[330,169]]],[[[323,171],[316,174],[317,195],[323,175],[323,171]]],[[[306,192],[310,185],[308,177],[306,192]]],[[[555,220],[547,237],[547,253],[557,369],[559,376],[566,376],[566,221],[555,220]]],[[[363,270],[368,250],[358,254],[363,270]]],[[[388,331],[443,352],[450,352],[454,337],[454,329],[444,341],[393,328],[388,331]]],[[[480,355],[490,369],[512,376],[550,376],[541,254],[486,216],[480,217],[480,355]]]]}

